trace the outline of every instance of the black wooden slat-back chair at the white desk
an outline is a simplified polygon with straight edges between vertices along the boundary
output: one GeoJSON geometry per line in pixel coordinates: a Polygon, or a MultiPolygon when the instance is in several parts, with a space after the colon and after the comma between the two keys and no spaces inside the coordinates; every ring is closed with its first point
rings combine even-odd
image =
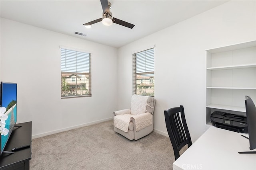
{"type": "Polygon", "coordinates": [[[184,107],[174,107],[164,111],[166,128],[172,147],[174,150],[175,160],[180,157],[180,150],[188,144],[192,145],[191,137],[186,123],[184,107]]]}

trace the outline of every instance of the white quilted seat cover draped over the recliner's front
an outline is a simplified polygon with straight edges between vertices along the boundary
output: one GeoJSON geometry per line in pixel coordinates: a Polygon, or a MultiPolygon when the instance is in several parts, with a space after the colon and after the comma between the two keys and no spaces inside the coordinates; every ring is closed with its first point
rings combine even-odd
{"type": "Polygon", "coordinates": [[[124,132],[128,132],[131,121],[131,114],[123,114],[114,116],[114,126],[124,132]]]}

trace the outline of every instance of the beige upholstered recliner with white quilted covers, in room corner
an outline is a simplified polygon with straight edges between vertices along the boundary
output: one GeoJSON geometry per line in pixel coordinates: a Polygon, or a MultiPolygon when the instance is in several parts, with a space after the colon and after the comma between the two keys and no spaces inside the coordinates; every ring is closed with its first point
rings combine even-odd
{"type": "Polygon", "coordinates": [[[114,131],[130,140],[138,140],[151,133],[155,103],[153,97],[132,95],[130,109],[114,111],[114,131]]]}

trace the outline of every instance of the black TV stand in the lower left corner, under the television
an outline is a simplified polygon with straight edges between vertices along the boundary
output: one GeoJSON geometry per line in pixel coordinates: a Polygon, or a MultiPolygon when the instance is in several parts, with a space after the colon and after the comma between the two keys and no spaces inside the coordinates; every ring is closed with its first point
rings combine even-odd
{"type": "Polygon", "coordinates": [[[0,170],[29,170],[29,160],[31,159],[31,147],[16,150],[14,154],[10,152],[14,147],[30,145],[32,142],[32,122],[19,123],[12,131],[6,147],[1,154],[0,170]]]}

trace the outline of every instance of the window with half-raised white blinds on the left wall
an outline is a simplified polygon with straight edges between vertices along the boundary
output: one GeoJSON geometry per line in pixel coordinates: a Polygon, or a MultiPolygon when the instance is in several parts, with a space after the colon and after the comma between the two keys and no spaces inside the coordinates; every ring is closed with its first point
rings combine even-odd
{"type": "Polygon", "coordinates": [[[61,98],[92,96],[91,54],[63,49],[61,53],[61,98]]]}

